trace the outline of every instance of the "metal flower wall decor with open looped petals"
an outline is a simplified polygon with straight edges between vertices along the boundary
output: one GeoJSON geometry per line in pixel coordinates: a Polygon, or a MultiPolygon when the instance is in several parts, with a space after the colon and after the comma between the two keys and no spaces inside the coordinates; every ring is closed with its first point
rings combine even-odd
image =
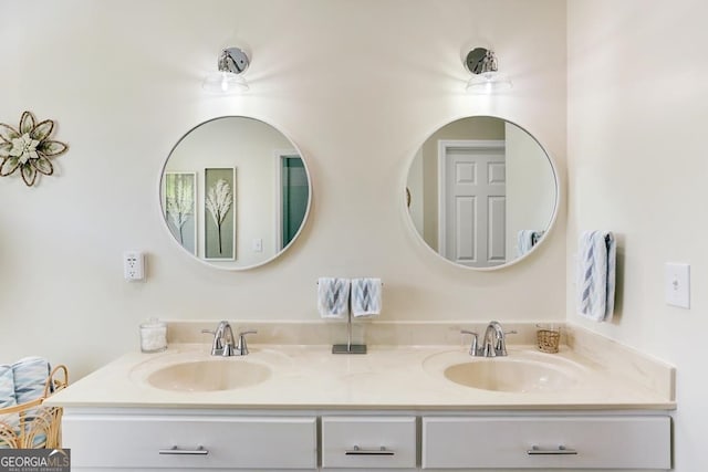
{"type": "Polygon", "coordinates": [[[20,169],[22,180],[31,187],[38,181],[39,174],[54,174],[50,158],[66,153],[69,147],[50,139],[53,130],[53,120],[35,123],[30,112],[22,114],[18,129],[0,123],[0,177],[11,176],[20,169]]]}

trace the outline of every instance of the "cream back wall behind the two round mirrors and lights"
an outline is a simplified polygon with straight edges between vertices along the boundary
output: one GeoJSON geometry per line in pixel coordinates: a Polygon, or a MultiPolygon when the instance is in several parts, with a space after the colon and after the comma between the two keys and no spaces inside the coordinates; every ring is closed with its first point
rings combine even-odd
{"type": "Polygon", "coordinates": [[[323,275],[383,277],[383,319],[564,318],[550,290],[564,219],[523,264],[476,273],[436,259],[402,199],[420,144],[467,115],[523,125],[564,171],[564,1],[6,0],[0,18],[0,123],[30,109],[70,146],[37,188],[0,178],[2,361],[45,355],[76,378],[135,349],[147,316],[315,319],[323,275]],[[465,95],[476,45],[497,51],[511,93],[465,95]],[[225,46],[251,55],[242,97],[200,88],[225,46]],[[274,125],[312,175],[301,238],[248,272],[185,256],[160,218],[169,150],[221,115],[274,125]],[[125,249],[147,252],[145,283],[123,281],[125,249]]]}

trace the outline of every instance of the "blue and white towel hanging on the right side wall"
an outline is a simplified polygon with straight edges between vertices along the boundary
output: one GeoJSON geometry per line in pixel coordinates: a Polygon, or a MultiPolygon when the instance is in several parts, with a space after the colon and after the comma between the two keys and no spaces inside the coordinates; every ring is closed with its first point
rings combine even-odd
{"type": "Polygon", "coordinates": [[[610,231],[585,231],[577,245],[577,310],[596,322],[612,319],[615,308],[615,238],[610,231]]]}

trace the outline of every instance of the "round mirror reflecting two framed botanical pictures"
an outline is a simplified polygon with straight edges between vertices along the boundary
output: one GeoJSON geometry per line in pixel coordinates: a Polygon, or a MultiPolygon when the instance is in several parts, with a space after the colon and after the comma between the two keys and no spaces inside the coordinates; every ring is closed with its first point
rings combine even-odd
{"type": "Polygon", "coordinates": [[[310,210],[308,168],[267,123],[242,116],[205,122],[184,135],[160,180],[165,224],[189,254],[242,270],[280,255],[310,210]]]}

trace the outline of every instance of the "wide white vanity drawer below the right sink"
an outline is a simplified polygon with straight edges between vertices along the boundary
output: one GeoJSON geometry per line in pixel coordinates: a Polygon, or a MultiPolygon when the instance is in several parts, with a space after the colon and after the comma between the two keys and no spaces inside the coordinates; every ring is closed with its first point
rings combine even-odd
{"type": "Polygon", "coordinates": [[[423,419],[423,469],[670,469],[669,417],[423,419]]]}

